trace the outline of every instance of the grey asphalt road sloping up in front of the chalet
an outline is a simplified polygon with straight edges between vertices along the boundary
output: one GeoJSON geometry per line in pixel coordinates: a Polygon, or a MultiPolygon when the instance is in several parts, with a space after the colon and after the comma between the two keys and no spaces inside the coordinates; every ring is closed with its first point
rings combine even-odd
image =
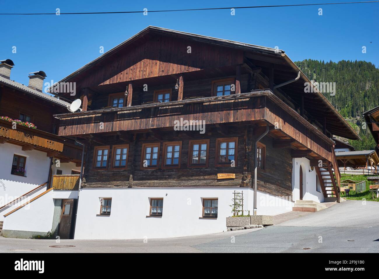
{"type": "MultiPolygon", "coordinates": [[[[288,216],[293,218],[293,213],[288,213],[288,216]]],[[[263,229],[152,239],[147,243],[143,240],[61,240],[56,243],[55,240],[0,237],[0,252],[378,253],[379,203],[347,201],[263,229]],[[75,247],[49,247],[52,245],[75,247]]]]}

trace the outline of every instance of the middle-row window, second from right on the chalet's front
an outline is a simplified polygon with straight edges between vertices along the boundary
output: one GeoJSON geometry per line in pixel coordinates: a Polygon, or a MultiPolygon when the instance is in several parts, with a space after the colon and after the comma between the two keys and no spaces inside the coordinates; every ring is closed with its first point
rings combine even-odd
{"type": "Polygon", "coordinates": [[[208,167],[209,139],[190,140],[188,143],[188,167],[208,167]]]}

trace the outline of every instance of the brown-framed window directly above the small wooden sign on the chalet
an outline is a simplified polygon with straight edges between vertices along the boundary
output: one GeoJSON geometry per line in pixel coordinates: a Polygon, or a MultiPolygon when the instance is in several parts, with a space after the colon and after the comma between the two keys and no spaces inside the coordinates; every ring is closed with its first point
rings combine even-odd
{"type": "Polygon", "coordinates": [[[238,137],[216,139],[216,167],[230,167],[232,160],[237,166],[238,137]]]}

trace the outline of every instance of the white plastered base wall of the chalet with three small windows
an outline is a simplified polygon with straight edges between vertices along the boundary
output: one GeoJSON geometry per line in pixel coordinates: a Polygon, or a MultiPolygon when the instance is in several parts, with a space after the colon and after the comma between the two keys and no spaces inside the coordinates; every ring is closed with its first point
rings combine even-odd
{"type": "MultiPolygon", "coordinates": [[[[253,213],[250,188],[87,188],[81,189],[75,239],[149,239],[226,231],[233,191],[243,191],[244,213],[253,213]],[[112,198],[110,216],[99,216],[100,199],[112,198]],[[150,214],[149,198],[163,198],[163,215],[150,214]],[[202,199],[218,198],[217,219],[202,219],[202,199]]],[[[262,192],[258,214],[292,210],[293,203],[262,192]]]]}

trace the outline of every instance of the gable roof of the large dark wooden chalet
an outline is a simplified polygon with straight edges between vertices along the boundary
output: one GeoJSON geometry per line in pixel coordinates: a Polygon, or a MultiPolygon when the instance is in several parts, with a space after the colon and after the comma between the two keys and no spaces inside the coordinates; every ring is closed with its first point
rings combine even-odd
{"type": "MultiPolygon", "coordinates": [[[[142,38],[144,35],[148,33],[155,33],[162,36],[175,36],[176,38],[182,38],[182,39],[189,39],[194,40],[197,42],[207,43],[207,44],[213,44],[221,47],[228,47],[233,48],[237,50],[243,50],[250,54],[249,59],[252,60],[262,60],[261,62],[266,63],[269,61],[270,63],[277,64],[278,69],[275,70],[274,76],[277,77],[278,83],[282,83],[285,81],[288,81],[294,77],[300,72],[301,80],[299,79],[297,82],[294,82],[291,84],[291,87],[294,87],[294,85],[297,84],[295,89],[291,89],[291,98],[295,99],[295,101],[298,101],[298,98],[300,98],[299,93],[304,93],[304,82],[308,82],[309,84],[312,84],[311,81],[308,79],[307,76],[305,76],[304,73],[296,66],[293,61],[285,54],[284,50],[280,49],[274,49],[271,47],[263,47],[263,46],[257,46],[253,44],[247,44],[247,43],[240,43],[237,41],[231,41],[227,39],[219,39],[219,38],[213,38],[209,36],[203,36],[193,33],[187,33],[187,32],[181,32],[177,30],[171,30],[161,27],[154,27],[154,26],[148,26],[145,29],[143,29],[141,32],[138,32],[136,35],[130,37],[126,41],[122,42],[121,44],[117,45],[113,49],[105,52],[100,57],[94,59],[93,61],[87,63],[83,67],[76,70],[74,73],[69,74],[67,77],[63,78],[59,81],[61,82],[70,82],[74,81],[76,79],[80,79],[81,75],[84,75],[86,71],[95,68],[96,65],[98,65],[101,61],[105,60],[108,57],[111,57],[112,55],[115,55],[122,49],[124,49],[128,45],[132,45],[135,43],[138,39],[142,38]],[[281,67],[281,68],[279,68],[281,67]],[[292,72],[292,73],[291,73],[292,72]],[[290,75],[288,75],[290,74],[290,75]],[[289,77],[292,76],[293,77],[289,77]]],[[[271,65],[272,65],[271,64],[271,65]]],[[[259,62],[257,63],[259,65],[259,62]]],[[[283,88],[287,88],[285,85],[283,88]]],[[[286,91],[286,90],[285,90],[286,91]]],[[[304,104],[309,106],[307,107],[307,111],[312,114],[313,117],[318,119],[319,123],[324,123],[324,115],[328,115],[329,119],[327,122],[327,130],[337,136],[345,137],[347,139],[353,139],[353,140],[360,140],[359,135],[357,132],[349,125],[349,123],[340,115],[340,113],[330,104],[330,102],[323,96],[319,90],[314,87],[313,88],[313,94],[315,96],[312,96],[312,98],[309,98],[304,100],[304,104]],[[315,98],[316,97],[316,98],[315,98]],[[320,108],[318,104],[322,104],[322,107],[320,108]],[[324,110],[322,113],[320,113],[320,110],[324,110]]]]}

